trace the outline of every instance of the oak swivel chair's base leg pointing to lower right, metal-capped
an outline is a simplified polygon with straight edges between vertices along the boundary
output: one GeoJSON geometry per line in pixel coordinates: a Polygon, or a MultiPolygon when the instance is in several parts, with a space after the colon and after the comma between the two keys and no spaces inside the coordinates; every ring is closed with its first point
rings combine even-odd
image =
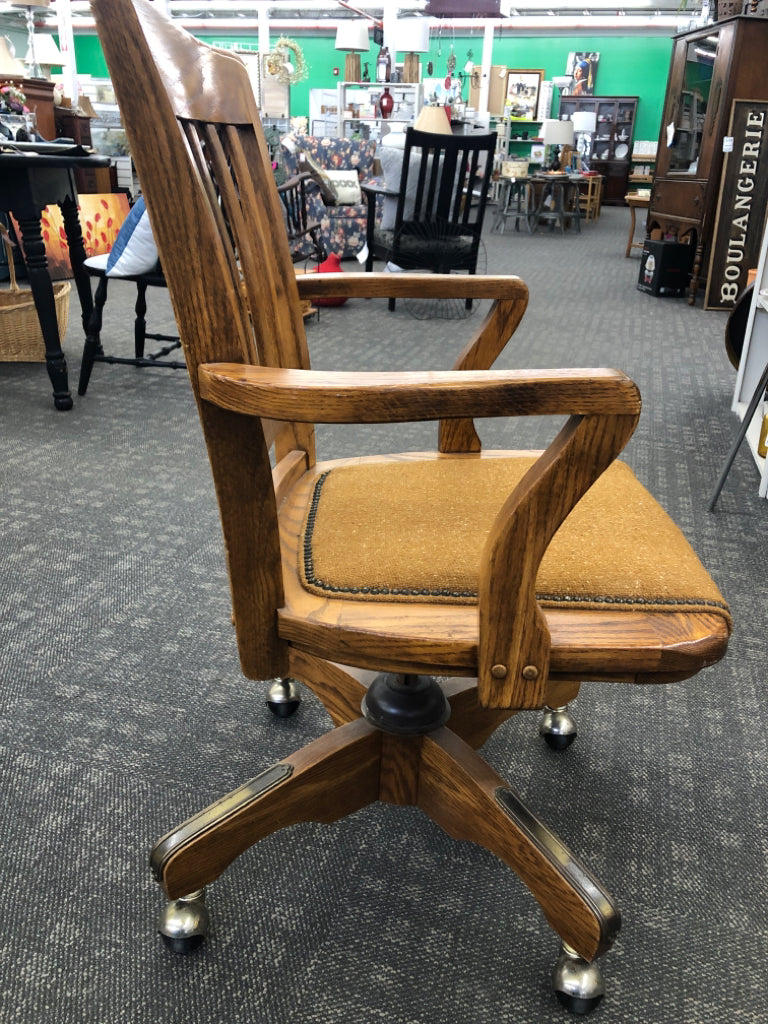
{"type": "Polygon", "coordinates": [[[424,737],[418,804],[450,836],[477,843],[509,864],[580,956],[592,961],[609,948],[621,926],[610,896],[447,728],[424,737]]]}

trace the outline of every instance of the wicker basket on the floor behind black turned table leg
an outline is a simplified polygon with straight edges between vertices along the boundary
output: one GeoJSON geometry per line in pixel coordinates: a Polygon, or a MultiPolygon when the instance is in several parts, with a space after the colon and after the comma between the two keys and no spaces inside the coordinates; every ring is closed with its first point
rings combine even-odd
{"type": "MultiPolygon", "coordinates": [[[[45,362],[45,342],[32,292],[16,284],[13,252],[7,239],[3,239],[3,243],[8,256],[10,288],[0,291],[0,362],[45,362]]],[[[70,318],[70,291],[69,281],[59,281],[53,286],[61,340],[70,318]]]]}

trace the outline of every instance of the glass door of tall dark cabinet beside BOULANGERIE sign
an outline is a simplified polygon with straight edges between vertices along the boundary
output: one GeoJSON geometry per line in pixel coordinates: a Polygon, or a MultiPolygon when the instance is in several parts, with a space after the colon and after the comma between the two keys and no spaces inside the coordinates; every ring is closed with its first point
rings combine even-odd
{"type": "Polygon", "coordinates": [[[675,136],[670,151],[671,174],[695,175],[698,170],[717,51],[717,35],[687,43],[683,84],[675,114],[675,136]]]}

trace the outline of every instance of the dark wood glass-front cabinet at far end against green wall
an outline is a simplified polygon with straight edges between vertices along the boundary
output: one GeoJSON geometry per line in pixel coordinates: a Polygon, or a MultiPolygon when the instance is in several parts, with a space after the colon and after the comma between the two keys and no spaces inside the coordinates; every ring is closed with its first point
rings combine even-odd
{"type": "Polygon", "coordinates": [[[629,191],[630,155],[637,116],[637,96],[562,96],[560,118],[570,120],[579,111],[597,118],[588,152],[578,146],[581,156],[589,160],[590,170],[603,177],[602,202],[607,206],[624,206],[629,191]]]}

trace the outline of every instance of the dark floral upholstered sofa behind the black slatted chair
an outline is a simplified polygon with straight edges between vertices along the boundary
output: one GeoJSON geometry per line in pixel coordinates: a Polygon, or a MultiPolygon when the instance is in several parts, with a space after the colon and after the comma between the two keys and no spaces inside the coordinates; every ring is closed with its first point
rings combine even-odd
{"type": "Polygon", "coordinates": [[[366,245],[366,199],[341,191],[335,196],[328,181],[323,180],[325,175],[318,172],[350,171],[352,174],[347,175],[350,180],[375,180],[376,142],[292,133],[283,137],[281,148],[289,177],[305,170],[313,174],[314,180],[307,182],[307,215],[309,220],[319,221],[326,251],[336,253],[341,259],[356,256],[366,245]],[[350,198],[354,199],[351,203],[350,198]]]}

